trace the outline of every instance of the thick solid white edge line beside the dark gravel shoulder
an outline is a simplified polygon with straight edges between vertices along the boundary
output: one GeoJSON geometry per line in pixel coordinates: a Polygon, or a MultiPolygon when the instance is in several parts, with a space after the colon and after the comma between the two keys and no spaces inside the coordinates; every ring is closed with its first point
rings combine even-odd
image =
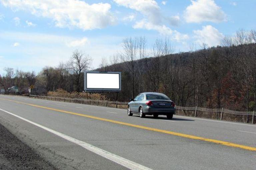
{"type": "Polygon", "coordinates": [[[26,122],[28,122],[28,123],[31,123],[31,124],[33,124],[33,125],[39,127],[39,128],[45,129],[45,130],[47,130],[47,131],[49,131],[49,132],[51,132],[51,133],[53,133],[53,134],[55,134],[55,135],[57,135],[57,136],[60,136],[60,137],[62,137],[62,138],[64,138],[64,139],[70,141],[70,142],[73,142],[73,143],[75,143],[75,144],[78,144],[78,145],[82,146],[83,148],[85,148],[85,149],[87,149],[87,150],[89,150],[89,151],[91,151],[91,152],[94,152],[94,153],[96,153],[96,154],[98,154],[98,155],[100,155],[100,156],[102,156],[102,157],[104,157],[104,158],[106,158],[106,159],[109,159],[109,160],[111,160],[111,161],[113,161],[113,162],[115,162],[115,163],[118,163],[118,164],[120,164],[120,165],[122,165],[122,166],[124,166],[124,167],[126,167],[126,168],[131,169],[131,170],[137,170],[137,169],[138,169],[138,170],[152,170],[152,169],[147,168],[147,167],[145,167],[145,166],[143,166],[143,165],[140,165],[140,164],[138,164],[138,163],[135,163],[135,162],[133,162],[133,161],[130,161],[130,160],[128,160],[128,159],[125,159],[125,158],[123,158],[123,157],[121,157],[121,156],[115,155],[115,154],[113,154],[113,153],[110,153],[110,152],[105,151],[105,150],[103,150],[103,149],[100,149],[100,148],[98,148],[98,147],[95,147],[95,146],[93,146],[93,145],[91,145],[91,144],[89,144],[89,143],[86,143],[86,142],[84,142],[84,141],[75,139],[75,138],[73,138],[73,137],[70,137],[70,136],[65,135],[65,134],[63,134],[63,133],[60,133],[60,132],[55,131],[55,130],[53,130],[53,129],[50,129],[50,128],[44,127],[44,126],[42,126],[42,125],[39,125],[39,124],[37,124],[37,123],[34,123],[34,122],[30,121],[30,120],[27,120],[27,119],[25,119],[25,118],[22,118],[22,117],[20,117],[20,116],[18,116],[18,115],[15,115],[15,114],[11,113],[11,112],[5,111],[5,110],[3,110],[3,109],[1,109],[1,108],[0,108],[0,110],[3,111],[3,112],[5,112],[5,113],[8,113],[8,114],[10,114],[10,115],[12,115],[12,116],[15,116],[15,117],[17,117],[17,118],[19,118],[19,119],[21,119],[21,120],[23,120],[23,121],[26,121],[26,122]]]}

